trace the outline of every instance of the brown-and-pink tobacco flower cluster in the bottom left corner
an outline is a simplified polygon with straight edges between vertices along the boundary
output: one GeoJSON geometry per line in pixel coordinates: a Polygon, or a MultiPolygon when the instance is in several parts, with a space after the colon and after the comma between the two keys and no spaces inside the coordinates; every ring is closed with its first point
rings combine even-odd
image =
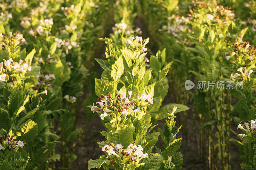
{"type": "Polygon", "coordinates": [[[12,133],[12,136],[7,135],[7,139],[4,135],[0,136],[0,150],[6,151],[6,150],[18,150],[18,148],[23,148],[24,144],[21,141],[13,141],[13,137],[15,135],[12,133]]]}

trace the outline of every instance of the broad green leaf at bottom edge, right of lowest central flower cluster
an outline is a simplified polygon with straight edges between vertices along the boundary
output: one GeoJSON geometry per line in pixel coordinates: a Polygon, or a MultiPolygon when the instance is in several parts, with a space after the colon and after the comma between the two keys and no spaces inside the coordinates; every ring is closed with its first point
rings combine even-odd
{"type": "Polygon", "coordinates": [[[141,170],[149,170],[149,169],[159,169],[161,167],[161,163],[163,162],[163,157],[158,153],[150,153],[148,158],[143,160],[145,165],[141,166],[141,170]]]}

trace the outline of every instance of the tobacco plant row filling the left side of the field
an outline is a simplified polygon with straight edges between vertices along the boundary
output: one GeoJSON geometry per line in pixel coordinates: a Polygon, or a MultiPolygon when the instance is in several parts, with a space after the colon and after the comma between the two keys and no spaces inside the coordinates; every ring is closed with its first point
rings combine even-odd
{"type": "Polygon", "coordinates": [[[74,105],[111,6],[89,0],[0,1],[1,169],[55,169],[57,160],[70,168],[83,137],[74,126],[74,105]]]}

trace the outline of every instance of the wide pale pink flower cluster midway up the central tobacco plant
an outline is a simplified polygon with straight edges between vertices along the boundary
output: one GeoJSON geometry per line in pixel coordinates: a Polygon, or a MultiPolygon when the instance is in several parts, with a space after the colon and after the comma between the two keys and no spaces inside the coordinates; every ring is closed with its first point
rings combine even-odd
{"type": "MultiPolygon", "coordinates": [[[[110,92],[108,92],[108,96],[101,95],[96,103],[97,106],[94,106],[93,103],[91,110],[93,113],[95,111],[103,111],[104,113],[100,115],[102,120],[110,115],[119,119],[132,114],[132,112],[140,114],[140,107],[146,107],[149,103],[153,104],[153,98],[150,99],[149,95],[145,93],[141,95],[136,94],[136,99],[132,98],[132,91],[128,91],[128,94],[128,96],[126,96],[126,94],[116,94],[116,101],[113,100],[110,92]],[[137,108],[135,109],[135,107],[137,108]]],[[[143,111],[147,112],[145,108],[143,111]]]]}

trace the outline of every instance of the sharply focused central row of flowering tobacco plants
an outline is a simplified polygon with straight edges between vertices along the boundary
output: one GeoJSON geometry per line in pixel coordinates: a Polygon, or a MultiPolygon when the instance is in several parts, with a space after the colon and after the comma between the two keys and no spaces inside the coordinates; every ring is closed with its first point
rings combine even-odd
{"type": "Polygon", "coordinates": [[[121,22],[113,28],[110,39],[101,39],[107,46],[107,59],[96,59],[104,71],[100,79],[95,78],[98,102],[89,106],[107,128],[100,132],[106,141],[98,142],[106,155],[90,159],[88,168],[181,169],[183,158],[177,150],[182,138],[176,138],[181,126],[176,129],[174,112],[188,107],[175,103],[162,106],[172,62],[166,63],[165,50],[148,60],[149,38],[143,40],[140,32],[132,30],[135,4],[120,3],[120,13],[114,17],[121,22]],[[156,121],[165,118],[164,131],[154,130],[156,121]],[[163,143],[154,147],[159,136],[163,143]]]}

